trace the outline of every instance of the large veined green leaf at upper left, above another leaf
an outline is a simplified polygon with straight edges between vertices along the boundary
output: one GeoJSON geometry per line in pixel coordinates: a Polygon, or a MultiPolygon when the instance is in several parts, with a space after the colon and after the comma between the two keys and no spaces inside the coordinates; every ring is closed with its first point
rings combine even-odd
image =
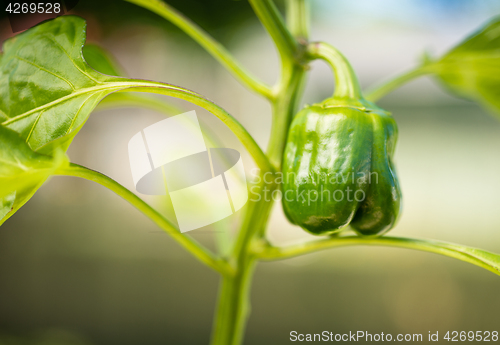
{"type": "Polygon", "coordinates": [[[0,60],[0,122],[34,151],[66,150],[90,112],[113,92],[82,57],[85,20],[62,16],[9,40],[0,60]]]}

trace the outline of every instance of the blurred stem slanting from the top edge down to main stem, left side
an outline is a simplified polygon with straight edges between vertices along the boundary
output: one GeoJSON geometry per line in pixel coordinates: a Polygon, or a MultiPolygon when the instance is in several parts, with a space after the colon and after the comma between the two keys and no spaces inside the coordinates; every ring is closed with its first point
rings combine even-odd
{"type": "Polygon", "coordinates": [[[261,94],[262,96],[272,99],[272,90],[266,84],[260,82],[255,77],[242,67],[213,37],[206,33],[202,28],[193,23],[189,18],[186,18],[176,9],[159,0],[125,0],[144,7],[151,12],[167,19],[172,24],[176,25],[188,36],[200,44],[210,55],[219,61],[229,72],[231,72],[242,84],[246,85],[252,91],[261,94]]]}

